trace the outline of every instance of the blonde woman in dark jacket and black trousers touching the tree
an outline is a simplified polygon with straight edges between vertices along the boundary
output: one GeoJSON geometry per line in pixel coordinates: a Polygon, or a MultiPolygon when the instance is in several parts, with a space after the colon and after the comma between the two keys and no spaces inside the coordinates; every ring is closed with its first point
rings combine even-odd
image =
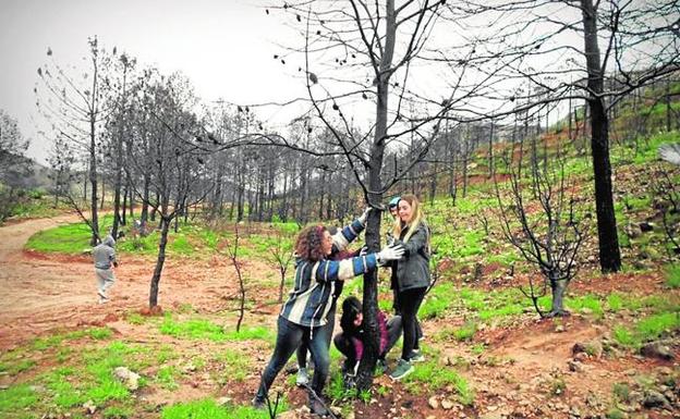
{"type": "Polygon", "coordinates": [[[413,371],[413,362],[424,360],[416,350],[417,311],[429,285],[429,229],[417,198],[414,195],[402,196],[392,232],[394,244],[404,248],[403,257],[396,261],[403,346],[401,359],[390,374],[392,380],[406,377],[413,371]]]}

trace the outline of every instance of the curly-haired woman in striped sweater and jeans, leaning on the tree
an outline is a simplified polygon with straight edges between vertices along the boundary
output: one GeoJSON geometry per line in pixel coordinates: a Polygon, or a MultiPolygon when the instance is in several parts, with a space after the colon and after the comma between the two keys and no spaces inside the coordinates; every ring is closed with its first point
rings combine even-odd
{"type": "Polygon", "coordinates": [[[352,224],[331,236],[323,225],[305,227],[295,241],[294,287],[283,304],[278,319],[274,354],[265,368],[253,406],[265,408],[271,383],[301,343],[305,343],[314,360],[314,377],[307,386],[309,409],[327,416],[321,392],[328,378],[330,338],[325,328],[332,306],[332,294],[339,281],[349,280],[376,269],[378,263],[399,259],[403,248],[387,246],[377,254],[344,260],[330,260],[333,252],[344,249],[364,230],[369,209],[352,224]]]}

